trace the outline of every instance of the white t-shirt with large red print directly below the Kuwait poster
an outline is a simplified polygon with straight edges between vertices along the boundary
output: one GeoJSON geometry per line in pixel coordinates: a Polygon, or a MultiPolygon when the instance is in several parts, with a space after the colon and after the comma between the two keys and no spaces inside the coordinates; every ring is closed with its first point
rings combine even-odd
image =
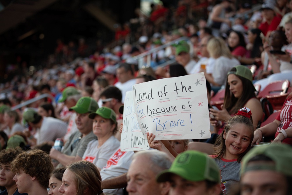
{"type": "MultiPolygon", "coordinates": [[[[133,151],[121,152],[121,148],[115,151],[112,157],[110,157],[107,161],[107,165],[100,171],[102,181],[113,177],[118,177],[128,172],[133,154],[133,151]]],[[[103,192],[122,195],[123,189],[103,189],[103,192]]]]}

